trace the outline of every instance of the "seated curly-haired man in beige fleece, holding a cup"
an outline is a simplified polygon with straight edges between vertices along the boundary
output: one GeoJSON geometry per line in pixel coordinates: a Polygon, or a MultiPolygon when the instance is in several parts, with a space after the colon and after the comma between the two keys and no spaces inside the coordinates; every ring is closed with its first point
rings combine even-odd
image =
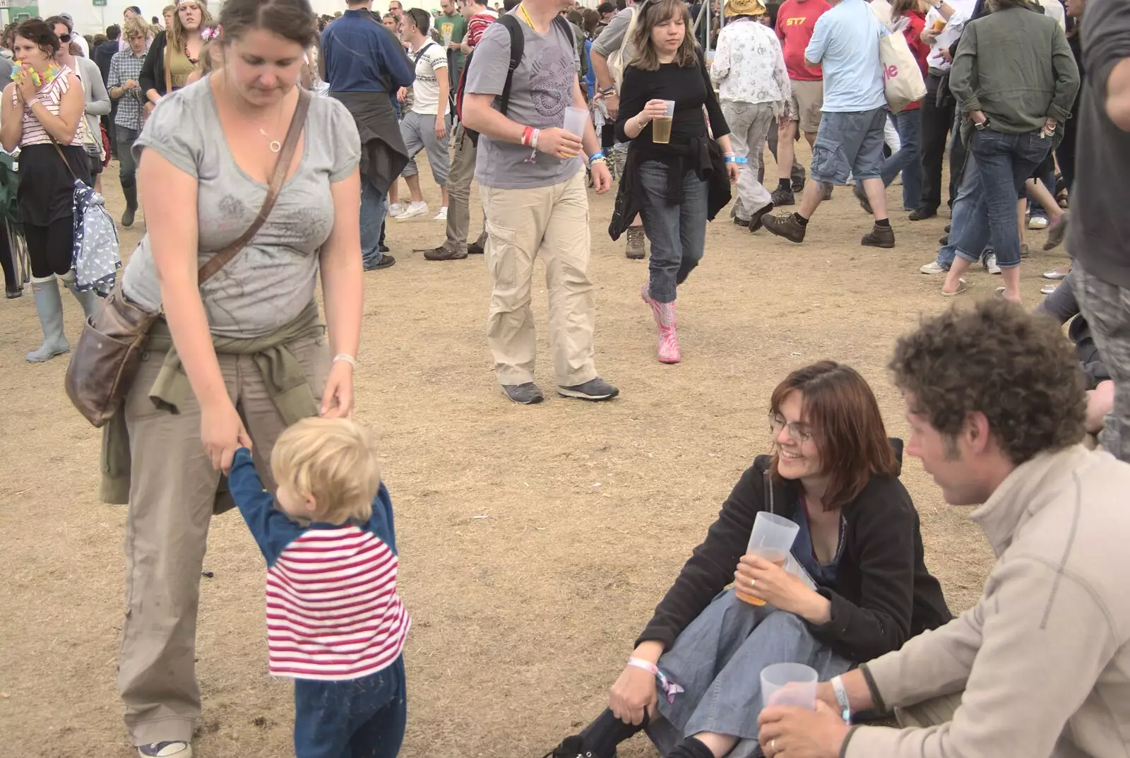
{"type": "Polygon", "coordinates": [[[980,602],[819,685],[834,709],[762,712],[768,758],[1123,758],[1130,734],[1130,465],[1079,444],[1058,325],[1002,299],[923,321],[890,361],[906,451],[997,555],[980,602]],[[901,731],[849,726],[895,708],[901,731]],[[835,714],[843,714],[843,718],[835,714]]]}

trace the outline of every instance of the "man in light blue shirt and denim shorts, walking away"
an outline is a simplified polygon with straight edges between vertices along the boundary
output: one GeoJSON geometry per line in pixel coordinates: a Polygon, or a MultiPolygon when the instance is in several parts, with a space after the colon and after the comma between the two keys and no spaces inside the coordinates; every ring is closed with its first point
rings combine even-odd
{"type": "Polygon", "coordinates": [[[883,128],[887,97],[883,89],[879,40],[889,32],[863,0],[828,0],[805,50],[808,66],[824,69],[824,106],[812,145],[811,178],[800,209],[788,216],[765,216],[765,228],[791,242],[802,242],[808,220],[823,199],[825,184],[846,184],[852,176],[863,185],[875,215],[875,227],[860,244],[894,247],[887,219],[883,167],[883,128]]]}

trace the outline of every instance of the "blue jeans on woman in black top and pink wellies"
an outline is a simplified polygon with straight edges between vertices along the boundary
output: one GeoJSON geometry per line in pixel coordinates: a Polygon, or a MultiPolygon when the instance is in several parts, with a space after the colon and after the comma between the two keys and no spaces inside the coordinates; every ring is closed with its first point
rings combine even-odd
{"type": "Polygon", "coordinates": [[[698,265],[706,247],[706,182],[689,171],[683,176],[683,202],[667,200],[666,164],[645,160],[640,182],[646,203],[640,215],[651,239],[651,296],[660,303],[675,302],[675,288],[698,265]]]}

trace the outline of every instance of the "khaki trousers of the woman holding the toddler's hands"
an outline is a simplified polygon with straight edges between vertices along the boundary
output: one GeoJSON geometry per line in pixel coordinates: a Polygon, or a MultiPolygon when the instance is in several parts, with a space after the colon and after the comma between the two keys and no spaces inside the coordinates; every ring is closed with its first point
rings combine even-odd
{"type": "MultiPolygon", "coordinates": [[[[287,346],[321,399],[330,369],[324,336],[287,346]]],[[[189,741],[200,716],[195,677],[197,605],[219,471],[200,442],[200,406],[158,410],[149,389],[164,354],[146,354],[125,400],[132,481],[125,523],[125,619],[118,690],[133,744],[189,741]]],[[[251,356],[220,355],[227,394],[254,446],[255,468],[273,488],[268,462],[282,420],[251,356]]]]}

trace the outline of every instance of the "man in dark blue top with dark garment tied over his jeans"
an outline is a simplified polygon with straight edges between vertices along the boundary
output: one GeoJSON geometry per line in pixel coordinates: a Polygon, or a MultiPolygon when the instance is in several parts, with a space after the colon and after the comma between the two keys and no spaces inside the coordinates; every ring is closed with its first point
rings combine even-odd
{"type": "Polygon", "coordinates": [[[322,78],[360,132],[360,252],[366,271],[395,259],[381,253],[381,226],[389,185],[408,164],[390,94],[416,80],[415,67],[397,35],[373,15],[372,0],[350,0],[348,10],[322,32],[322,78]]]}

